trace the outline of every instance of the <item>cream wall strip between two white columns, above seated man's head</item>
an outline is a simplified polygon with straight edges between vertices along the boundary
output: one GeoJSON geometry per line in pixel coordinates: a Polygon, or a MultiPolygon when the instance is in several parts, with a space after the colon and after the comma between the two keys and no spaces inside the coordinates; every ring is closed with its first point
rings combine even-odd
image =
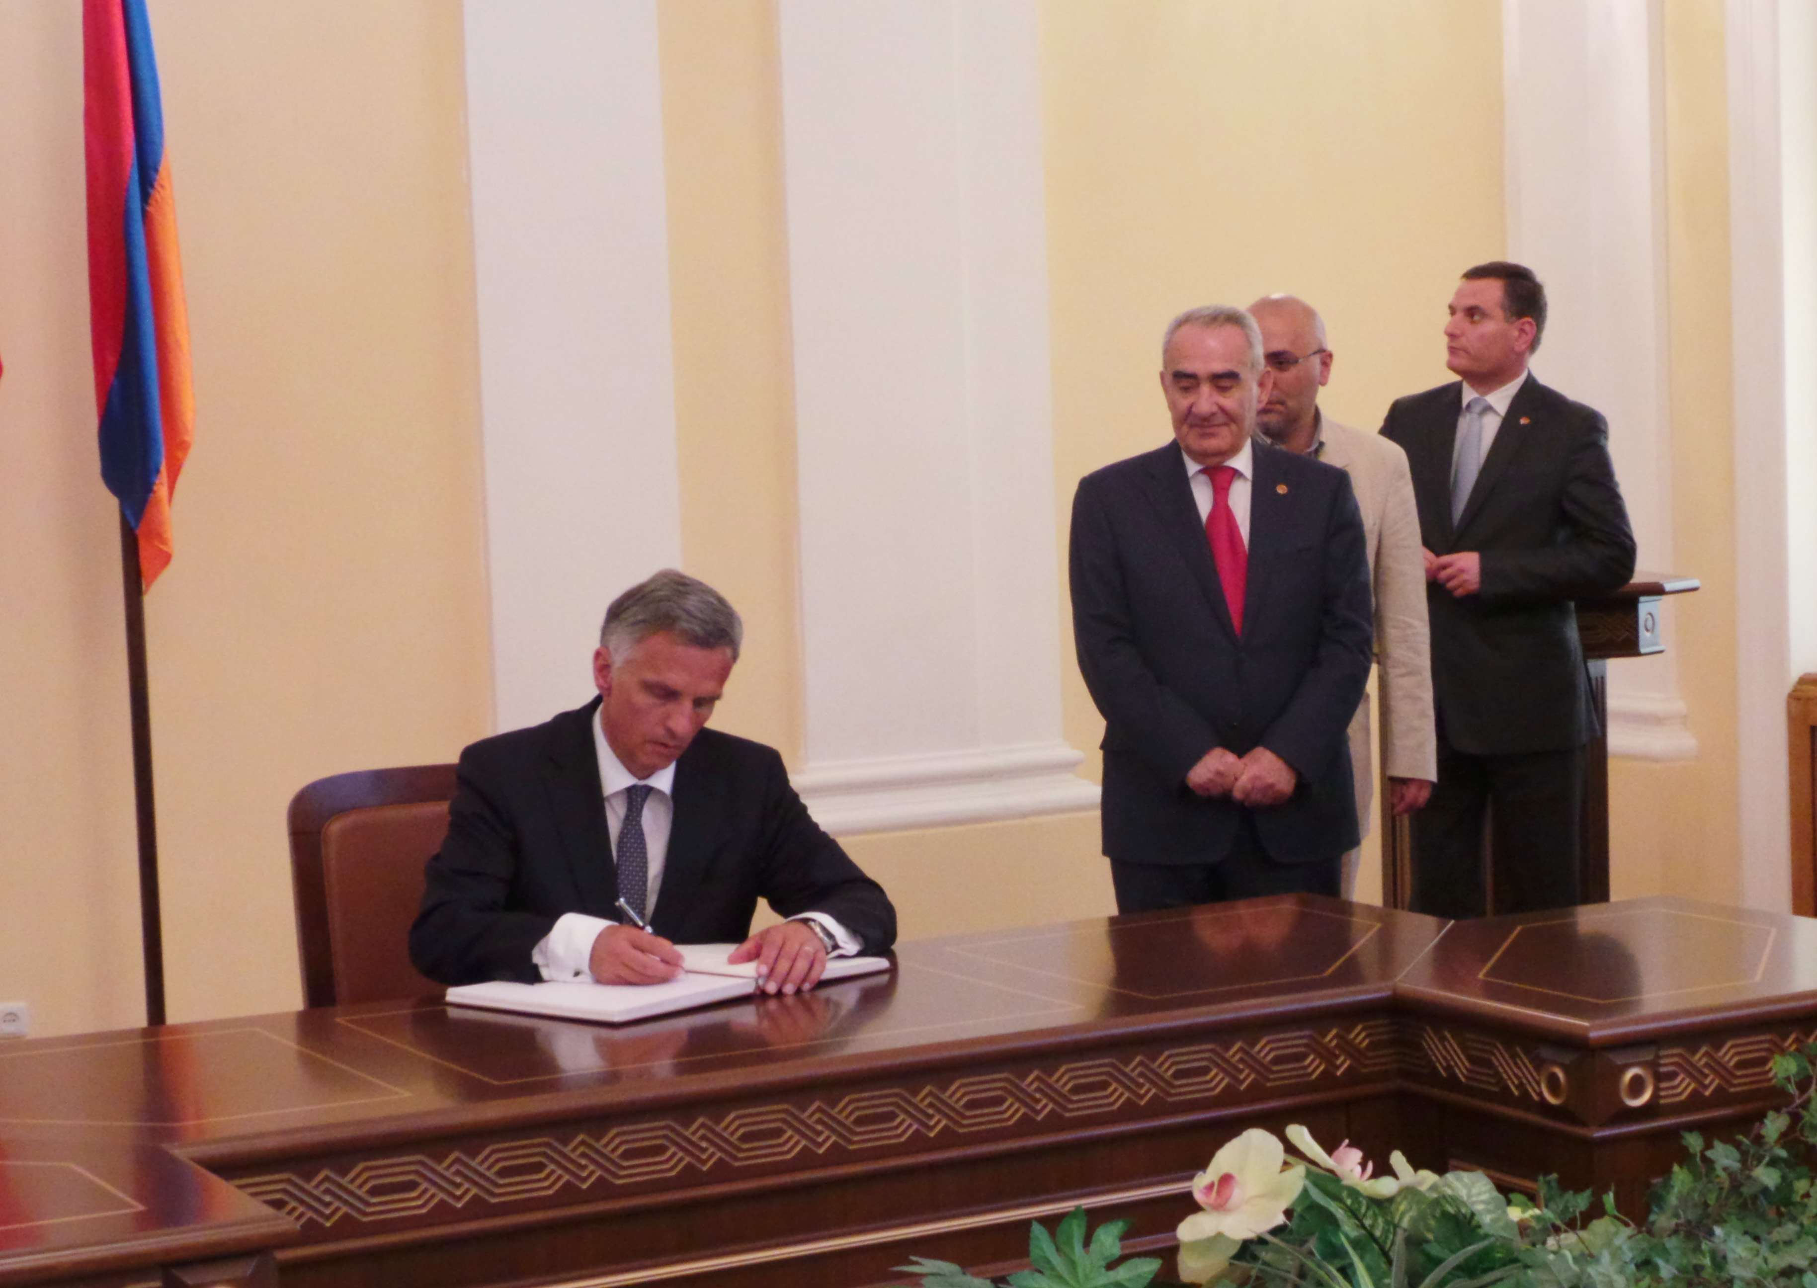
{"type": "Polygon", "coordinates": [[[681,552],[745,619],[720,728],[801,754],[781,80],[769,0],[661,0],[681,552]]]}

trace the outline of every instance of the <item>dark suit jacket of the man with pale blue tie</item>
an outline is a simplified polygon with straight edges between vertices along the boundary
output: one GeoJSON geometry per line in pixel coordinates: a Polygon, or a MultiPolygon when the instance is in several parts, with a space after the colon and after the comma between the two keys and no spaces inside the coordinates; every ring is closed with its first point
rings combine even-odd
{"type": "Polygon", "coordinates": [[[1401,398],[1381,432],[1406,451],[1419,536],[1434,554],[1477,550],[1483,589],[1426,589],[1432,692],[1452,747],[1504,756],[1581,747],[1595,710],[1572,601],[1633,576],[1633,532],[1603,416],[1534,376],[1508,405],[1452,527],[1463,385],[1401,398]]]}

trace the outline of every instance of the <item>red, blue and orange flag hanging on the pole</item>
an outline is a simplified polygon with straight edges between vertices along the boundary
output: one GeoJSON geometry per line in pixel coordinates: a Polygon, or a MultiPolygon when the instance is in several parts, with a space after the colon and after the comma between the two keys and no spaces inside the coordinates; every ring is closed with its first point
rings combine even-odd
{"type": "Polygon", "coordinates": [[[171,561],[171,494],[189,456],[194,394],[145,0],[82,2],[82,80],[102,481],[138,534],[149,589],[171,561]]]}

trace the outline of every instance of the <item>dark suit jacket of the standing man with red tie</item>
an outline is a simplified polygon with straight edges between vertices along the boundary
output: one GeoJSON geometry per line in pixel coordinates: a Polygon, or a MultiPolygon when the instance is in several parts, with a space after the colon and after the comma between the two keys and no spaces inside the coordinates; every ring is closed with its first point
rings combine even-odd
{"type": "Polygon", "coordinates": [[[1346,730],[1370,669],[1370,589],[1350,478],[1256,443],[1241,639],[1179,447],[1108,465],[1072,501],[1072,630],[1105,718],[1105,854],[1217,863],[1245,807],[1187,770],[1214,747],[1266,747],[1294,796],[1248,810],[1268,856],[1334,859],[1357,843],[1346,730]]]}

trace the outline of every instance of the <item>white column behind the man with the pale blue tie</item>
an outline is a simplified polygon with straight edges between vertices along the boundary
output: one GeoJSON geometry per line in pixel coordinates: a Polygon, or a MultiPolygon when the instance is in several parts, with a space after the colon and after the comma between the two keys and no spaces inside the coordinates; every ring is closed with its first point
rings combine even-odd
{"type": "MultiPolygon", "coordinates": [[[[1546,283],[1534,374],[1608,418],[1643,572],[1672,550],[1664,129],[1657,0],[1504,0],[1508,258],[1546,283]]],[[[1613,756],[1690,759],[1666,652],[1610,663],[1613,756]]]]}

